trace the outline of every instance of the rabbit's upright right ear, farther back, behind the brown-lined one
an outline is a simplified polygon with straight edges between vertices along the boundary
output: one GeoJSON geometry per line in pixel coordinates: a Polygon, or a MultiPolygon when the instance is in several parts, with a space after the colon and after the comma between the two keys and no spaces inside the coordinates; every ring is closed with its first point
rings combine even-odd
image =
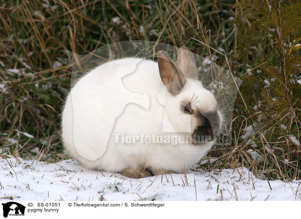
{"type": "Polygon", "coordinates": [[[194,54],[186,46],[182,46],[179,49],[177,66],[181,69],[185,77],[198,79],[194,54]]]}

